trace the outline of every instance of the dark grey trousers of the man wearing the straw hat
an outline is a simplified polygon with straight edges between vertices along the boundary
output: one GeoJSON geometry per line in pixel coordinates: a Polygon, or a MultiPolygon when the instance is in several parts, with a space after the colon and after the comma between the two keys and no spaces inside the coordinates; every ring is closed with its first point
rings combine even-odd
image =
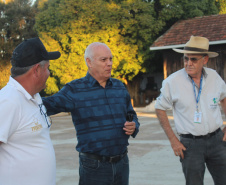
{"type": "Polygon", "coordinates": [[[223,132],[209,138],[191,139],[180,137],[185,146],[184,159],[180,159],[186,185],[203,185],[206,167],[215,185],[226,185],[226,142],[223,132]]]}

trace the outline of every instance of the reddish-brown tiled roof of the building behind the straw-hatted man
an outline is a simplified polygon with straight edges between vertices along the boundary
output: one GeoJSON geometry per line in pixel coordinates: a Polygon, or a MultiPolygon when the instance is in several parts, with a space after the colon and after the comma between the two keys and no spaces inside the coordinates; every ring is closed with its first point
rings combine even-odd
{"type": "Polygon", "coordinates": [[[226,14],[180,20],[151,47],[185,44],[191,35],[207,37],[209,41],[226,40],[226,14]]]}

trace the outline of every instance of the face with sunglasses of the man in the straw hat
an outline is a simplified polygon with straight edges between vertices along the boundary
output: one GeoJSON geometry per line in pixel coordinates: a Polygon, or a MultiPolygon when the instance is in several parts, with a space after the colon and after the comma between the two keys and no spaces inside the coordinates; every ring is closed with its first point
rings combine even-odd
{"type": "Polygon", "coordinates": [[[199,78],[203,66],[208,62],[209,57],[204,55],[184,54],[184,68],[192,78],[199,78]]]}

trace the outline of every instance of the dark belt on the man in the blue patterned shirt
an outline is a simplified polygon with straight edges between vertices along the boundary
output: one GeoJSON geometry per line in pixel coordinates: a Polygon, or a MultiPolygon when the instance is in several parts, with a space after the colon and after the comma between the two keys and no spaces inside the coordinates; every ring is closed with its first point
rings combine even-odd
{"type": "Polygon", "coordinates": [[[127,152],[128,151],[126,150],[123,154],[115,155],[115,156],[102,156],[102,155],[96,155],[96,154],[91,154],[91,153],[83,153],[83,152],[80,152],[80,155],[91,158],[91,159],[99,160],[99,161],[102,161],[102,162],[116,163],[116,162],[120,161],[123,157],[125,157],[127,152]]]}

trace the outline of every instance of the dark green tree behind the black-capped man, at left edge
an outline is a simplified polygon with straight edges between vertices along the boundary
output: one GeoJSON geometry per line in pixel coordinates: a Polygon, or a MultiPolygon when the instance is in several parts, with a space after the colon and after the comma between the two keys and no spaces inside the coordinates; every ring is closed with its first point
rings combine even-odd
{"type": "Polygon", "coordinates": [[[10,76],[10,57],[24,39],[37,36],[33,30],[37,8],[29,0],[0,2],[0,89],[10,76]]]}

